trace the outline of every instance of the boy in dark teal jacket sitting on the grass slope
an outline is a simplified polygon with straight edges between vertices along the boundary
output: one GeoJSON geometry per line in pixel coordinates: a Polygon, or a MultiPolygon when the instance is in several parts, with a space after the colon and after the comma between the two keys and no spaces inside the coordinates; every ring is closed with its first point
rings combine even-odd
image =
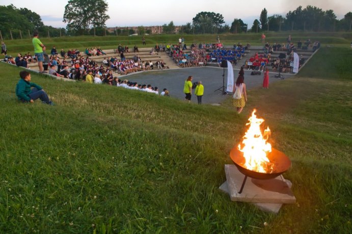
{"type": "Polygon", "coordinates": [[[43,103],[53,105],[44,89],[31,82],[31,74],[29,72],[21,71],[19,76],[21,79],[16,85],[16,95],[22,103],[33,103],[34,100],[40,98],[43,103]],[[31,89],[31,87],[34,88],[31,89]]]}

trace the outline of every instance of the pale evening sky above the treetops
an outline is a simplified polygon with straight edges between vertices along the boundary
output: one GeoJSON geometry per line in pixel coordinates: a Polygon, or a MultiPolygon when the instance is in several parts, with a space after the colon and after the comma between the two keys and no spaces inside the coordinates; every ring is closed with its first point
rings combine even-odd
{"type": "MultiPolygon", "coordinates": [[[[255,19],[259,20],[261,11],[265,8],[267,16],[275,14],[285,16],[288,11],[307,5],[321,8],[323,11],[333,10],[337,19],[352,11],[351,0],[105,0],[109,5],[107,14],[110,19],[105,22],[107,27],[115,26],[152,26],[169,24],[183,25],[192,23],[193,17],[202,11],[222,14],[226,24],[242,19],[251,27],[255,19]]],[[[45,25],[66,27],[63,22],[65,6],[68,1],[42,0],[0,0],[0,5],[13,4],[16,8],[28,8],[42,18],[45,25]],[[47,3],[47,4],[43,4],[47,3]]]]}

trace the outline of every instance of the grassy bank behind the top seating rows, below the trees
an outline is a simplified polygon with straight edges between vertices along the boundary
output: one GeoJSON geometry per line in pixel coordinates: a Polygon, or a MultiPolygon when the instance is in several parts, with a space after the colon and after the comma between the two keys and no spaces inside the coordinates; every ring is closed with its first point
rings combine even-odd
{"type": "MultiPolygon", "coordinates": [[[[352,32],[268,32],[266,33],[266,41],[273,43],[285,43],[288,35],[292,36],[294,42],[299,40],[305,41],[311,39],[312,42],[319,40],[322,44],[334,45],[334,46],[344,46],[349,47],[352,41],[352,32]]],[[[107,36],[107,37],[62,37],[62,38],[41,38],[41,41],[46,46],[47,50],[50,50],[52,46],[60,51],[64,49],[66,52],[68,49],[77,48],[80,51],[84,51],[87,47],[98,47],[102,49],[112,49],[117,48],[119,44],[130,45],[130,48],[134,45],[139,47],[152,47],[155,44],[177,44],[178,38],[182,35],[150,35],[146,36],[146,46],[142,45],[142,37],[127,37],[127,36],[107,36]]],[[[216,35],[183,35],[185,39],[185,44],[191,46],[193,42],[211,42],[216,41],[216,35]]],[[[248,42],[252,45],[261,45],[261,34],[224,34],[220,35],[221,42],[224,45],[233,45],[234,43],[241,42],[242,44],[247,44],[248,42]]],[[[16,56],[17,53],[27,53],[31,52],[33,54],[32,39],[23,40],[13,40],[6,41],[8,47],[8,53],[12,56],[16,56]]],[[[0,55],[0,58],[3,58],[0,55]]]]}

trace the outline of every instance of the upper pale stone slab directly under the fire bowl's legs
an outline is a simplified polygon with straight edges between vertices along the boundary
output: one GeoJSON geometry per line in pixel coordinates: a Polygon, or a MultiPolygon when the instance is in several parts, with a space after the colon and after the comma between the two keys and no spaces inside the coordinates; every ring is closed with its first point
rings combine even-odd
{"type": "Polygon", "coordinates": [[[235,202],[293,204],[296,202],[285,179],[259,180],[248,177],[242,193],[238,193],[245,175],[235,165],[226,164],[225,174],[231,200],[235,202]]]}

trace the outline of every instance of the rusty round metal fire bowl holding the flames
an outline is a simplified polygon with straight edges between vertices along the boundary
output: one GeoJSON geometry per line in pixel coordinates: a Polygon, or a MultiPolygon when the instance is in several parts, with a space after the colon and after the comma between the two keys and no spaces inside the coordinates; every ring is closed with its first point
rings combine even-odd
{"type": "Polygon", "coordinates": [[[272,148],[272,152],[267,155],[269,161],[274,163],[274,171],[272,173],[261,173],[245,168],[243,166],[246,162],[245,157],[243,157],[243,153],[239,151],[237,147],[232,148],[230,157],[243,175],[260,180],[278,177],[286,172],[291,166],[291,160],[283,152],[274,148],[272,148]]]}

